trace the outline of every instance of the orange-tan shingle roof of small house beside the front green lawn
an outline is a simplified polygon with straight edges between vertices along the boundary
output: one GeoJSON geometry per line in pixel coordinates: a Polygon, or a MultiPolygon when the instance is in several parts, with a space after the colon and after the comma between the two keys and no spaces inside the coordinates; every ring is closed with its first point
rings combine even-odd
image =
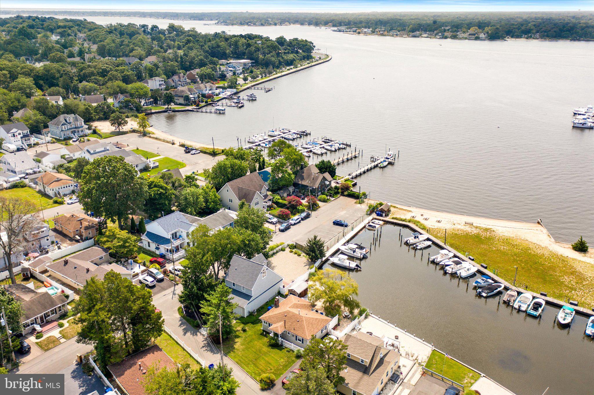
{"type": "Polygon", "coordinates": [[[287,330],[304,339],[310,339],[332,320],[312,311],[308,300],[295,295],[289,295],[279,303],[279,307],[271,308],[260,319],[271,323],[270,330],[275,333],[287,330]]]}

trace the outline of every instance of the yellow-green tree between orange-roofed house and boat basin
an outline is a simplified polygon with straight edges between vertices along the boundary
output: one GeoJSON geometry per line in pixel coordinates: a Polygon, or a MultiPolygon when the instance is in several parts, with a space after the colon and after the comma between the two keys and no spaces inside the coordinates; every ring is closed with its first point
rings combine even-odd
{"type": "Polygon", "coordinates": [[[361,307],[355,299],[359,295],[359,285],[352,277],[344,276],[340,270],[318,270],[309,282],[314,284],[314,287],[309,289],[309,300],[321,301],[328,317],[340,314],[343,309],[354,314],[355,310],[361,307]]]}

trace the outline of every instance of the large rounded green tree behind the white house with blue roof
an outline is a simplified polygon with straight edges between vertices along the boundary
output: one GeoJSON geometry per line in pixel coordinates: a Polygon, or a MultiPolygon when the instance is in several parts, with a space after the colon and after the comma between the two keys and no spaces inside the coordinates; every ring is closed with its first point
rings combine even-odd
{"type": "Polygon", "coordinates": [[[138,177],[123,157],[110,155],[84,168],[78,199],[85,211],[117,220],[122,228],[125,218],[143,208],[147,193],[145,177],[138,177]]]}

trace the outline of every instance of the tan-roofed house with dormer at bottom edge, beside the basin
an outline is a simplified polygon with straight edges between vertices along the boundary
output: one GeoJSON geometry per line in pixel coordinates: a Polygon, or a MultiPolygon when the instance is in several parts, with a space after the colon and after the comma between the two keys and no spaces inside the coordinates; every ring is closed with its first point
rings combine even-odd
{"type": "Polygon", "coordinates": [[[346,368],[340,372],[345,383],[336,390],[345,395],[377,395],[383,390],[400,362],[400,353],[387,341],[367,333],[347,333],[346,368]]]}

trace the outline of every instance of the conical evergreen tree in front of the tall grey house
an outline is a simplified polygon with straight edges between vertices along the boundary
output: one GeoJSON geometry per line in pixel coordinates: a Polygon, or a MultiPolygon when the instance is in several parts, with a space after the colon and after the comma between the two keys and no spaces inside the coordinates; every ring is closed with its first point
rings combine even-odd
{"type": "Polygon", "coordinates": [[[230,296],[231,288],[225,283],[220,283],[213,292],[206,295],[206,300],[200,304],[200,311],[204,314],[208,335],[213,339],[219,339],[219,329],[223,339],[235,333],[233,322],[238,315],[233,310],[237,304],[229,301],[230,296]]]}

